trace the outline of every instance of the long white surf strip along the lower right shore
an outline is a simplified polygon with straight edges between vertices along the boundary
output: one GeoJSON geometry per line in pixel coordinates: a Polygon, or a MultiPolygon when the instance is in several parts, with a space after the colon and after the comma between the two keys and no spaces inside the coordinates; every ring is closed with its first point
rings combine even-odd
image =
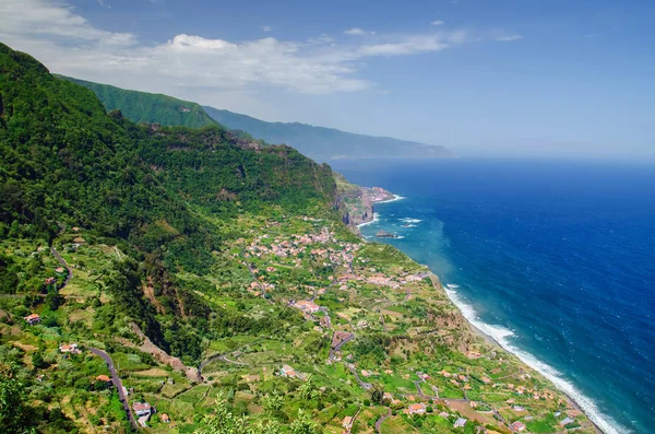
{"type": "Polygon", "coordinates": [[[603,431],[603,433],[628,434],[633,432],[621,426],[614,419],[600,412],[598,406],[596,406],[591,398],[582,394],[571,382],[563,378],[562,374],[555,367],[539,361],[533,354],[514,345],[512,343],[512,337],[515,337],[515,335],[512,330],[483,321],[473,306],[467,304],[461,294],[452,290],[453,286],[454,285],[446,285],[445,293],[453,304],[457,306],[460,312],[462,312],[462,315],[464,315],[468,322],[498,342],[504,350],[517,356],[523,363],[550,379],[560,390],[580,406],[584,413],[603,431]]]}

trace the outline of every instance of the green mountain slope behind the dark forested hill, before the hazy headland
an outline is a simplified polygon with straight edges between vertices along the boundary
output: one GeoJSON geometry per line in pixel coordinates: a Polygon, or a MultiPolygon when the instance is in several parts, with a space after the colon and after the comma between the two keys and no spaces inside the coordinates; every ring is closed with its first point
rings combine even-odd
{"type": "Polygon", "coordinates": [[[136,124],[160,124],[168,127],[189,128],[201,128],[215,124],[196,103],[162,94],[129,91],[64,75],[58,77],[92,90],[107,110],[119,109],[124,117],[136,124]]]}

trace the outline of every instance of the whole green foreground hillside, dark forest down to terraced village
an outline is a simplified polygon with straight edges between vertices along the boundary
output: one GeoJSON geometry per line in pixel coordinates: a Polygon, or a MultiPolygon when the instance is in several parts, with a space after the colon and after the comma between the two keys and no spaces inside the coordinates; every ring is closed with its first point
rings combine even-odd
{"type": "Polygon", "coordinates": [[[354,236],[338,185],[285,145],[107,114],[0,44],[0,432],[593,433],[354,236]]]}

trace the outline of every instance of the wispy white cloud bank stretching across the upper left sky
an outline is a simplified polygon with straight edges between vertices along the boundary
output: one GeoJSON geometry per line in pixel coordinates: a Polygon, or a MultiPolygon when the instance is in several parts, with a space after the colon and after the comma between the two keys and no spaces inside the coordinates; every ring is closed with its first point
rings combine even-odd
{"type": "Polygon", "coordinates": [[[131,33],[98,28],[62,0],[0,0],[0,40],[50,70],[200,102],[226,94],[252,99],[262,86],[306,94],[362,91],[374,86],[358,74],[367,58],[436,52],[469,40],[465,31],[348,34],[359,31],[369,35],[366,43],[324,34],[242,42],[179,34],[150,45],[131,33]]]}

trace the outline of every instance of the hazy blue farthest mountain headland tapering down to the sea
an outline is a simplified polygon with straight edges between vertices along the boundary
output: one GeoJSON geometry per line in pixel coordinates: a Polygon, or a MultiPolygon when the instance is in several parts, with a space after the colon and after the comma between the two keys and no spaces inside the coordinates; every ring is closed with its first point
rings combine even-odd
{"type": "Polygon", "coordinates": [[[285,143],[315,161],[338,159],[434,159],[451,156],[443,146],[340,131],[307,124],[266,122],[246,115],[204,107],[217,122],[269,143],[285,143]]]}

